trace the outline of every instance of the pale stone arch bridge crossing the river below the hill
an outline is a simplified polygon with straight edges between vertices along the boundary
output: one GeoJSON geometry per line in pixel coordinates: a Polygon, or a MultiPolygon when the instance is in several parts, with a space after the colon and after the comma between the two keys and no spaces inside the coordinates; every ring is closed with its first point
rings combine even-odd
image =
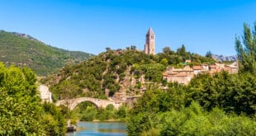
{"type": "Polygon", "coordinates": [[[68,106],[70,110],[73,110],[76,106],[78,106],[79,103],[83,101],[89,101],[92,102],[97,108],[102,107],[106,108],[107,105],[113,105],[115,109],[118,109],[121,104],[116,103],[114,101],[108,101],[108,100],[102,100],[97,98],[90,98],[90,97],[80,97],[80,98],[74,98],[74,99],[68,99],[68,100],[60,100],[55,103],[56,106],[64,105],[68,106]]]}

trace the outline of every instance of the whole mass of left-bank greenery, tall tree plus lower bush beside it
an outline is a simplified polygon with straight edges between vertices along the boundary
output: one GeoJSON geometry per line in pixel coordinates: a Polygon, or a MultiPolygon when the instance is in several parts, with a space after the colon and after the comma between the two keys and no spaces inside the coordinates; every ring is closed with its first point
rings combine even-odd
{"type": "Polygon", "coordinates": [[[36,74],[0,63],[0,135],[64,135],[64,116],[54,104],[41,104],[36,74]]]}

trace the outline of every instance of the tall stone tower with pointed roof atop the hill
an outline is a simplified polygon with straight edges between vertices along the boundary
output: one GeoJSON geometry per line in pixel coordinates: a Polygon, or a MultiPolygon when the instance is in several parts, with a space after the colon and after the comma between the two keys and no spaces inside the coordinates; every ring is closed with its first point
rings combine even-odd
{"type": "Polygon", "coordinates": [[[154,52],[154,31],[149,27],[148,33],[146,34],[145,43],[145,54],[155,54],[154,52]]]}

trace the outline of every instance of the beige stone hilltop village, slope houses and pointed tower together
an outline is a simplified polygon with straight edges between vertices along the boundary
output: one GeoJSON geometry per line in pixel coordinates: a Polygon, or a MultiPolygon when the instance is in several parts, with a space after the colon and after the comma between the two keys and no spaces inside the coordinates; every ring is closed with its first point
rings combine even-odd
{"type": "MultiPolygon", "coordinates": [[[[145,40],[145,54],[155,54],[154,40],[154,31],[151,27],[149,27],[145,40]]],[[[184,68],[168,67],[167,70],[163,73],[163,79],[167,82],[178,82],[187,84],[188,82],[190,82],[192,77],[195,77],[199,73],[210,73],[212,75],[214,73],[220,73],[224,70],[228,73],[233,74],[238,73],[239,69],[237,62],[231,64],[214,63],[211,65],[202,63],[201,65],[192,66],[192,68],[189,66],[190,63],[191,60],[186,59],[184,62],[184,68]]]]}

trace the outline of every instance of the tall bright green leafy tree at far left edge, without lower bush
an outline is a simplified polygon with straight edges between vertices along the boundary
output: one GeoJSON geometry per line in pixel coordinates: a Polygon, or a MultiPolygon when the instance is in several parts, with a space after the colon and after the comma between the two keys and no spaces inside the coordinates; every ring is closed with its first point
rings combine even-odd
{"type": "Polygon", "coordinates": [[[0,63],[0,135],[43,135],[36,75],[0,63]]]}

